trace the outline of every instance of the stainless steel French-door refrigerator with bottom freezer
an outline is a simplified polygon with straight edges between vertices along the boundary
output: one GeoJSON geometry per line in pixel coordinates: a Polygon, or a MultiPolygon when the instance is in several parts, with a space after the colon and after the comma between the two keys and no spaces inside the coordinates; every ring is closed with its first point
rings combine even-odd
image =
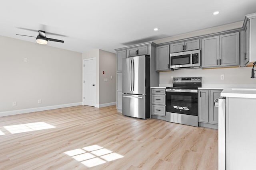
{"type": "Polygon", "coordinates": [[[149,118],[150,58],[129,57],[122,60],[122,114],[149,118]]]}

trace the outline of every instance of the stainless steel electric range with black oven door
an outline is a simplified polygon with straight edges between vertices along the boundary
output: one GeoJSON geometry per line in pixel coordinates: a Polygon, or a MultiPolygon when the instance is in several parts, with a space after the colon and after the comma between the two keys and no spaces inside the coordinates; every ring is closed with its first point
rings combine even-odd
{"type": "Polygon", "coordinates": [[[198,87],[202,77],[175,77],[166,89],[166,121],[198,127],[198,87]]]}

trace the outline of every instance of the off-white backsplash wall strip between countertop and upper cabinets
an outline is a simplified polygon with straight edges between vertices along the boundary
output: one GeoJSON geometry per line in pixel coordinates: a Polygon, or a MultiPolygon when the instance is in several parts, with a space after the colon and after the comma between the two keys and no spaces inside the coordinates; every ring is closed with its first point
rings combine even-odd
{"type": "Polygon", "coordinates": [[[202,84],[255,84],[250,78],[252,67],[201,69],[192,68],[159,73],[159,84],[172,84],[172,77],[202,77],[202,84]],[[224,80],[221,80],[224,75],[224,80]]]}

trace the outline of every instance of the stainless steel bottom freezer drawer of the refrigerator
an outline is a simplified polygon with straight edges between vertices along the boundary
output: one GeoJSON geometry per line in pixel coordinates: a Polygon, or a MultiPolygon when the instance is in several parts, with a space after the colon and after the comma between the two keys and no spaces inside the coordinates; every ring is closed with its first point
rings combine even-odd
{"type": "Polygon", "coordinates": [[[122,114],[126,116],[146,119],[146,96],[123,94],[122,114]]]}

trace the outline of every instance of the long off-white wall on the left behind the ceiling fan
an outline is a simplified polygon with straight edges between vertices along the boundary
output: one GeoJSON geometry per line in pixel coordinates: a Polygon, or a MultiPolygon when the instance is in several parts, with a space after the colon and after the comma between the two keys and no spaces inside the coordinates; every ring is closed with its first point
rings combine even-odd
{"type": "Polygon", "coordinates": [[[81,59],[81,53],[0,36],[0,112],[82,102],[81,59]]]}

